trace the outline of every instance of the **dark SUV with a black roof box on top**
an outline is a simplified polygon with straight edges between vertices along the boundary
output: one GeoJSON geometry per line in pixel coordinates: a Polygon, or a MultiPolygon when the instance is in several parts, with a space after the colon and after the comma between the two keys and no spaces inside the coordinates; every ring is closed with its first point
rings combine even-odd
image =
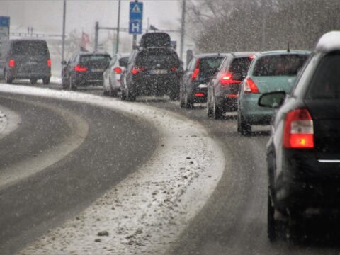
{"type": "Polygon", "coordinates": [[[123,100],[135,101],[137,96],[164,94],[169,94],[171,100],[179,97],[181,62],[176,51],[170,47],[170,40],[164,35],[167,34],[143,35],[141,46],[130,55],[121,81],[123,100]]]}

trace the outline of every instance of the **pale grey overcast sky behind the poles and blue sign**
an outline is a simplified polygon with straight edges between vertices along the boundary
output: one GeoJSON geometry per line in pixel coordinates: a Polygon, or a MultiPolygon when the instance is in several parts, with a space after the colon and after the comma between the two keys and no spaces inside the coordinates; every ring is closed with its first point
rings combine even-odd
{"type": "MultiPolygon", "coordinates": [[[[121,27],[128,27],[129,2],[121,1],[121,27]]],[[[180,4],[176,0],[145,0],[143,26],[150,23],[159,28],[180,27],[180,4]]],[[[11,16],[11,32],[26,31],[32,26],[34,31],[62,33],[61,0],[0,0],[0,16],[11,16]]],[[[117,26],[118,0],[67,0],[67,33],[77,28],[86,33],[94,33],[94,23],[100,26],[117,26]]],[[[171,34],[176,38],[175,34],[171,34]]]]}

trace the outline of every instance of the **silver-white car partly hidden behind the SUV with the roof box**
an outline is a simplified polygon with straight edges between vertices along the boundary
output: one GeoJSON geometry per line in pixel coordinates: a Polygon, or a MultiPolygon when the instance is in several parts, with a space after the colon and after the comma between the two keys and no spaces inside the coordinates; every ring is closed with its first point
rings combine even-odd
{"type": "Polygon", "coordinates": [[[128,65],[130,53],[113,56],[108,69],[103,73],[104,96],[117,96],[120,91],[120,76],[128,65]]]}

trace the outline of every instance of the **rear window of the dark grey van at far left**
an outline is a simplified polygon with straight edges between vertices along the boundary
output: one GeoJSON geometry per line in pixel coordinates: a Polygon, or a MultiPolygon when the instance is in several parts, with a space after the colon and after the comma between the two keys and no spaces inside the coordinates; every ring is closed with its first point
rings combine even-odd
{"type": "Polygon", "coordinates": [[[49,57],[47,43],[45,41],[23,40],[13,42],[11,54],[15,56],[49,57]]]}

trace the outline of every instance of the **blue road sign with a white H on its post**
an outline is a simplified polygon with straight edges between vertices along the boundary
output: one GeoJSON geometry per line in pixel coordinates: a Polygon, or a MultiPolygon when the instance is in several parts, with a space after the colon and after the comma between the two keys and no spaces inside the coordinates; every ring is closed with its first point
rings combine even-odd
{"type": "Polygon", "coordinates": [[[129,33],[133,35],[132,47],[137,45],[137,35],[142,34],[143,3],[137,0],[130,2],[129,33]]]}

